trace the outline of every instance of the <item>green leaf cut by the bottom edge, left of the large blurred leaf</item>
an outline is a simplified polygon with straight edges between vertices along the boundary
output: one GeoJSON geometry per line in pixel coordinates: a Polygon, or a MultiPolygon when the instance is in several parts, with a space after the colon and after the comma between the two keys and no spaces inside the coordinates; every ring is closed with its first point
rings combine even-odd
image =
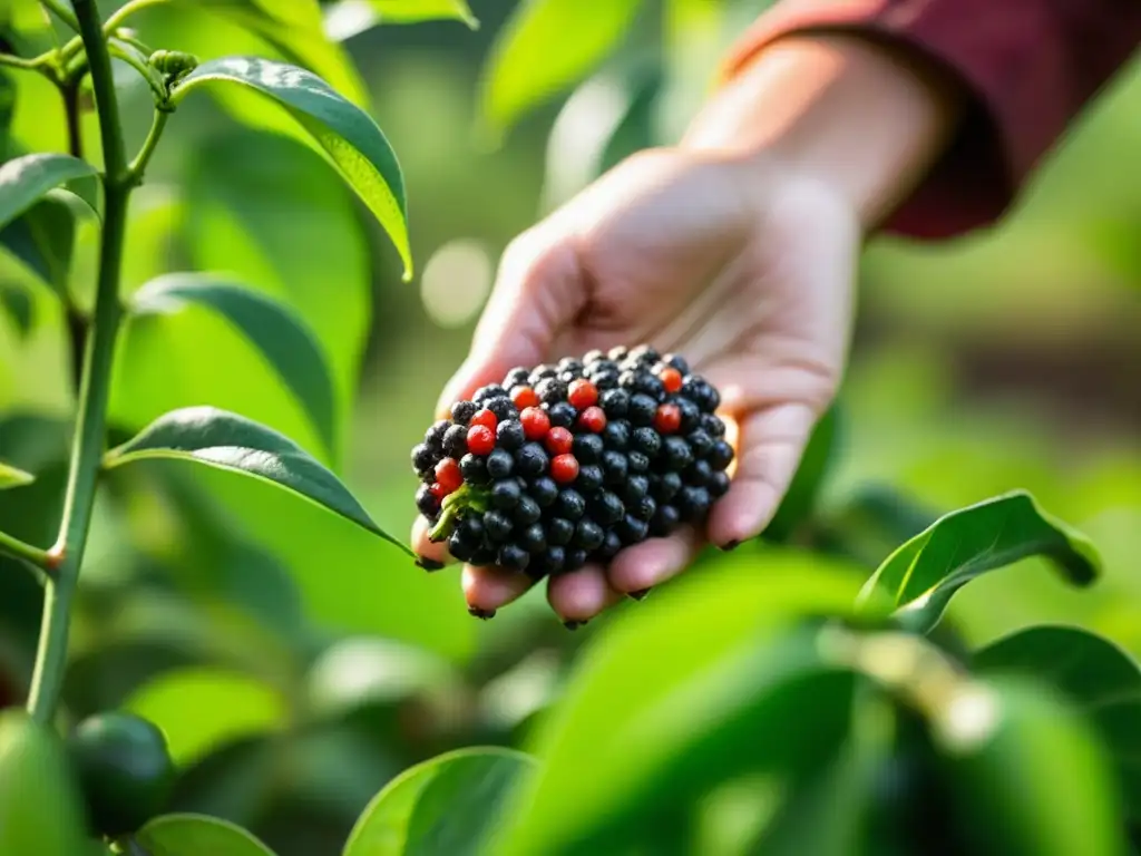
{"type": "Polygon", "coordinates": [[[523,752],[461,749],[405,770],[361,814],[343,856],[477,856],[509,794],[535,768],[523,752]]]}

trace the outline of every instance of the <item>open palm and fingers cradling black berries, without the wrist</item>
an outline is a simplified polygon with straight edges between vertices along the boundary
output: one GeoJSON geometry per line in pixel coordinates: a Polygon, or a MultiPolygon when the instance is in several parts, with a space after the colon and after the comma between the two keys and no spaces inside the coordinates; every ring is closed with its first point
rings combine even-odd
{"type": "MultiPolygon", "coordinates": [[[[442,412],[516,365],[649,342],[721,390],[738,441],[733,486],[705,530],[552,578],[564,620],[663,582],[706,540],[730,547],[762,531],[840,381],[858,244],[853,212],[824,185],[778,163],[672,148],[624,162],[509,248],[442,412]]],[[[422,520],[414,547],[446,558],[422,520]]],[[[531,584],[497,568],[463,572],[468,603],[483,611],[531,584]]]]}

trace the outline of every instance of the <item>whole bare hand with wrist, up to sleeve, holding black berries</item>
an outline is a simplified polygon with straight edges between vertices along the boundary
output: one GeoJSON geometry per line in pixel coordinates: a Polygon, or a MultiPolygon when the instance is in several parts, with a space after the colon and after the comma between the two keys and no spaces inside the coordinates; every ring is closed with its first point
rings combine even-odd
{"type": "MultiPolygon", "coordinates": [[[[926,70],[930,71],[930,70],[926,70]]],[[[644,152],[504,253],[452,402],[531,366],[648,342],[721,391],[737,458],[701,530],[683,528],[548,582],[567,622],[678,574],[706,543],[760,534],[844,370],[864,232],[941,151],[960,113],[947,81],[859,40],[787,39],[711,99],[682,143],[644,152]]],[[[413,528],[423,557],[446,547],[413,528]]],[[[466,566],[486,615],[532,584],[466,566]]]]}

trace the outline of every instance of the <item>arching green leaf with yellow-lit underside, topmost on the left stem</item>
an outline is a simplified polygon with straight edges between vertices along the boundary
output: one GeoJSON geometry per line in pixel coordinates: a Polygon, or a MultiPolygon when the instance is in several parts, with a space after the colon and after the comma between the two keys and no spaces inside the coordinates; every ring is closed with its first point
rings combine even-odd
{"type": "Polygon", "coordinates": [[[404,261],[405,278],[411,280],[404,176],[396,153],[367,113],[311,72],[257,57],[203,63],[183,79],[171,99],[180,102],[211,82],[253,89],[289,111],[388,232],[404,261]]]}

